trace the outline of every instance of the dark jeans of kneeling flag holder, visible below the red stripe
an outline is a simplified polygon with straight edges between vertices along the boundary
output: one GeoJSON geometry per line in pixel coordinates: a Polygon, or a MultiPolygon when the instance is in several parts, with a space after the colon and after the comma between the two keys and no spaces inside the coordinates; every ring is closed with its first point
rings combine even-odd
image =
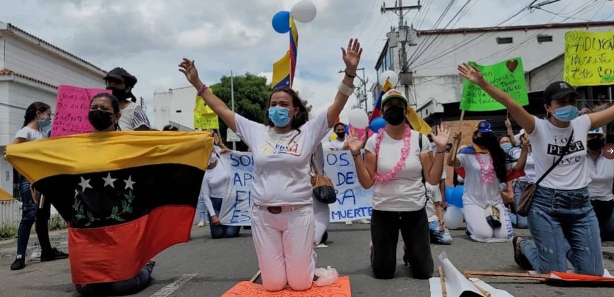
{"type": "Polygon", "coordinates": [[[133,295],[149,284],[152,270],[147,266],[139,271],[139,274],[122,282],[110,282],[103,284],[75,285],[75,289],[81,296],[125,296],[133,295]]]}

